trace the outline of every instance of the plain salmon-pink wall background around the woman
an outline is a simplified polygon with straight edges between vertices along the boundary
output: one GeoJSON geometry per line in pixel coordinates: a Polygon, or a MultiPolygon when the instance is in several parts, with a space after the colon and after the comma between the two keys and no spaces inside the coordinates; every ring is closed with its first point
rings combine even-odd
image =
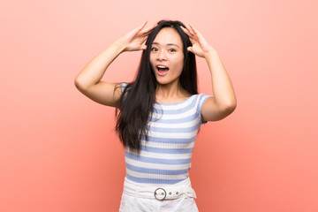
{"type": "MultiPolygon", "coordinates": [[[[0,211],[118,210],[114,109],[73,80],[111,42],[160,19],[201,31],[238,97],[230,117],[199,133],[190,176],[200,210],[318,211],[317,10],[316,0],[2,1],[0,211]]],[[[124,53],[105,79],[133,79],[139,61],[124,53]]]]}

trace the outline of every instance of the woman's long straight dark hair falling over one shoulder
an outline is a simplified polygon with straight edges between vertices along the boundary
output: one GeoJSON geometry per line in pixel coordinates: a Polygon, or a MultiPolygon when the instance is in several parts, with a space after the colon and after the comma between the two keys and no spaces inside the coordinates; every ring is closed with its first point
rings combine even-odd
{"type": "Polygon", "coordinates": [[[187,47],[192,46],[192,43],[180,26],[185,27],[180,21],[161,20],[148,35],[147,49],[142,52],[136,79],[126,85],[116,108],[116,132],[124,147],[139,152],[141,135],[145,135],[146,140],[148,140],[148,121],[154,110],[157,87],[149,56],[155,36],[164,27],[174,28],[183,43],[184,65],[179,77],[180,86],[191,95],[198,94],[195,56],[192,52],[187,51],[187,47]]]}

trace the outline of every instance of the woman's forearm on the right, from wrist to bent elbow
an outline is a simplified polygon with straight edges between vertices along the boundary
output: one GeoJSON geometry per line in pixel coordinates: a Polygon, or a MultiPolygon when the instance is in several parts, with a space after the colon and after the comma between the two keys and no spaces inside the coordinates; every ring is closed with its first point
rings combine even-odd
{"type": "Polygon", "coordinates": [[[222,110],[236,107],[236,96],[229,74],[226,72],[221,58],[215,49],[206,55],[208,68],[211,72],[212,90],[216,105],[222,110]]]}

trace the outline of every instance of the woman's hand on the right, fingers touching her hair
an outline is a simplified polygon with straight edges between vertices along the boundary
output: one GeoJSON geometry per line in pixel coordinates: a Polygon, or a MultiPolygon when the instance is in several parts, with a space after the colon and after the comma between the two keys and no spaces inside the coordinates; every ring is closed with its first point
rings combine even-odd
{"type": "Polygon", "coordinates": [[[190,42],[193,44],[192,47],[188,47],[187,50],[193,52],[198,57],[204,57],[211,51],[215,51],[212,46],[204,39],[201,33],[196,30],[193,26],[185,24],[185,27],[181,27],[183,31],[189,36],[190,42]]]}

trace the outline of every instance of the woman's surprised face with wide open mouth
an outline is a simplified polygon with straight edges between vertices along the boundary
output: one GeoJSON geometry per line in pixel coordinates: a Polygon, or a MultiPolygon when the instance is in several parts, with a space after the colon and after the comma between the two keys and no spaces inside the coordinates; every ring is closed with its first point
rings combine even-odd
{"type": "Polygon", "coordinates": [[[181,37],[174,28],[164,27],[155,36],[150,51],[150,64],[159,84],[178,83],[184,53],[181,37]]]}

